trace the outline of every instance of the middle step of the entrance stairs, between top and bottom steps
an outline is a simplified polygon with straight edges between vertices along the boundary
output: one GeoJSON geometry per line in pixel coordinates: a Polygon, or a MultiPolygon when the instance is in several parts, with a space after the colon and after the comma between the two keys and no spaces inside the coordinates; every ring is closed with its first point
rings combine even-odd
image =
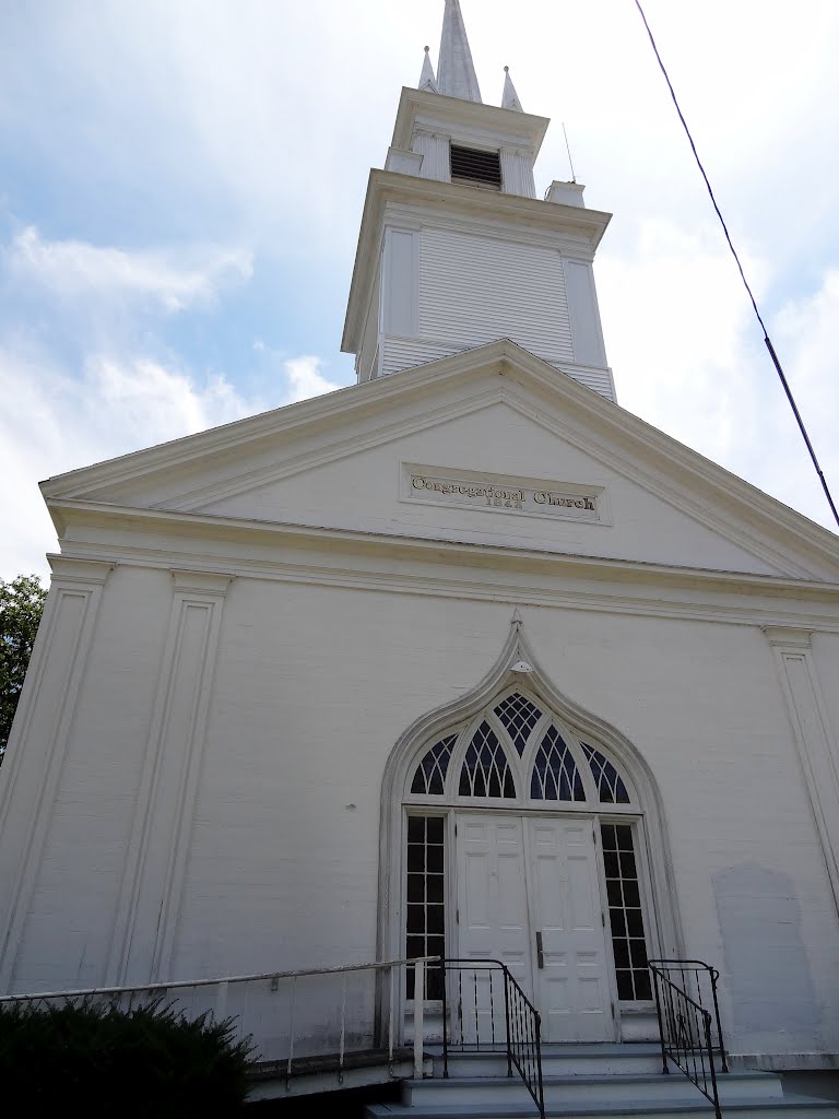
{"type": "MultiPolygon", "coordinates": [[[[574,1103],[654,1102],[660,1099],[696,1102],[699,1091],[687,1076],[670,1073],[640,1075],[613,1074],[596,1076],[543,1075],[546,1107],[571,1107],[574,1103]]],[[[710,1087],[710,1085],[708,1085],[710,1087]]],[[[733,1100],[777,1100],[783,1096],[781,1078],[771,1072],[729,1072],[717,1078],[720,1102],[733,1100]]],[[[700,1097],[699,1097],[700,1098],[700,1097]]],[[[447,1080],[408,1080],[403,1083],[403,1103],[424,1108],[428,1104],[526,1103],[529,1092],[521,1078],[458,1076],[447,1080]]]]}

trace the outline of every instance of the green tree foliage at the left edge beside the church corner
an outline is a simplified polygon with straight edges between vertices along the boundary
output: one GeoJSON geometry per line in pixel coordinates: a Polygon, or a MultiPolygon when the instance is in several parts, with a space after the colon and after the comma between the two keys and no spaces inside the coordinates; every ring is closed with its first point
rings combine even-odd
{"type": "Polygon", "coordinates": [[[47,596],[37,575],[0,579],[0,761],[47,596]]]}

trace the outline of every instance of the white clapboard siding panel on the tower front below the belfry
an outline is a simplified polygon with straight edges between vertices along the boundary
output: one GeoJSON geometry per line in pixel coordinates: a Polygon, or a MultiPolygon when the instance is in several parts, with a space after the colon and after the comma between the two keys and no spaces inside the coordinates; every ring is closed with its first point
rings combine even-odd
{"type": "Polygon", "coordinates": [[[573,361],[559,254],[449,229],[423,229],[420,333],[445,338],[453,349],[507,337],[547,361],[573,361]]]}

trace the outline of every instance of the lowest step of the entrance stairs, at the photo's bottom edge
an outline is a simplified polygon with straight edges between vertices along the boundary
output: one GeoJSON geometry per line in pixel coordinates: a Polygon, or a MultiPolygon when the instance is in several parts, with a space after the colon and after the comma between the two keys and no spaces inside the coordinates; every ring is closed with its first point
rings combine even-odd
{"type": "MultiPolygon", "coordinates": [[[[695,1101],[661,1098],[633,1103],[571,1103],[546,1106],[546,1119],[708,1119],[711,1106],[699,1092],[695,1101]]],[[[367,1108],[367,1119],[532,1119],[536,1107],[526,1103],[451,1104],[376,1103],[367,1108]]],[[[805,1096],[781,1099],[738,1099],[725,1104],[725,1119],[839,1119],[839,1104],[805,1096]]]]}

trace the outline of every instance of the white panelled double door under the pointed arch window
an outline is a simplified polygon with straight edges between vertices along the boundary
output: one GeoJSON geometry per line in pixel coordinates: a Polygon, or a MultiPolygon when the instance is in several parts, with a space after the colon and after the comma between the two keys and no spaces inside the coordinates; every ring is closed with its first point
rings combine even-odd
{"type": "Polygon", "coordinates": [[[506,963],[543,1040],[613,1040],[595,821],[464,812],[456,824],[458,955],[506,963]]]}

